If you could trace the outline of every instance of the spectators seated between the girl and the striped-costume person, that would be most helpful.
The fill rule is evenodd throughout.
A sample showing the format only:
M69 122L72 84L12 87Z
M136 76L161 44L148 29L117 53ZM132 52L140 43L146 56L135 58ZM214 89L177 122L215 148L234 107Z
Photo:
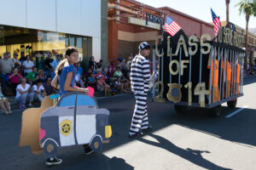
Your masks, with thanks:
M131 93L129 72L131 60L134 54L130 54L128 61L119 55L117 61L108 61L106 68L102 67L102 59L96 63L94 57L90 57L89 70L84 72L84 79L88 86L95 88L98 93L114 95L116 93Z

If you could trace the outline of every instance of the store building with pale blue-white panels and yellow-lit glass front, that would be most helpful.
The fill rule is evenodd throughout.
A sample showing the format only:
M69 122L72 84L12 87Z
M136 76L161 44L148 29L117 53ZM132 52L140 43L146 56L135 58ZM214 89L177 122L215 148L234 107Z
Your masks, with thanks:
M83 67L91 55L108 59L107 0L0 0L0 56L24 53L39 64L46 54L79 49Z

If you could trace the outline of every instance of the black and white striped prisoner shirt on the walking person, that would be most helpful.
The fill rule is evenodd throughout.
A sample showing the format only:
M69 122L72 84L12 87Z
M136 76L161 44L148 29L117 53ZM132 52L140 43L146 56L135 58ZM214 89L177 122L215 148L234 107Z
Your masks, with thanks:
M148 59L138 54L131 61L131 90L133 93L147 93L150 82Z

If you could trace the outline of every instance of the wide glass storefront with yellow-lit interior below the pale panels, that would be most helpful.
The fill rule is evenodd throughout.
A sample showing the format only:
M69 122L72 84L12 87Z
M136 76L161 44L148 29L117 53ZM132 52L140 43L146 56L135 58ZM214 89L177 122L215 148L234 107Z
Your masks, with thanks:
M21 53L24 53L25 56L30 55L39 69L44 69L41 64L48 54L52 54L52 59L55 59L56 54L61 54L64 57L66 48L69 46L78 48L82 67L87 67L86 62L92 51L91 37L15 26L0 26L0 56L3 56L4 52L9 52L11 58L14 53L17 53L18 59L20 59Z

